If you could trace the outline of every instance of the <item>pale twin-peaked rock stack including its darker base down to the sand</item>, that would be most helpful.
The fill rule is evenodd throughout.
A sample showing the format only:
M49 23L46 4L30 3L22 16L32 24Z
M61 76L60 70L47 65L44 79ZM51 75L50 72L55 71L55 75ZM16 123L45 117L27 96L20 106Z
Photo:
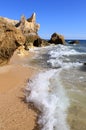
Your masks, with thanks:
M25 49L29 50L29 47L32 47L34 41L39 38L38 30L40 25L36 23L36 14L33 13L28 19L26 19L25 16L22 16L19 23L15 26L20 29L26 37Z

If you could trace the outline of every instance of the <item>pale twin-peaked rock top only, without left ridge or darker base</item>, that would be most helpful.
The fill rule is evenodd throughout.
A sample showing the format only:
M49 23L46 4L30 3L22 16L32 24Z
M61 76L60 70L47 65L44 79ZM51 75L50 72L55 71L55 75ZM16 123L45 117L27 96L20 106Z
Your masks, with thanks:
M28 36L29 34L37 35L40 25L36 23L36 14L33 13L28 19L22 16L20 22L16 24L16 27L20 29L25 36Z

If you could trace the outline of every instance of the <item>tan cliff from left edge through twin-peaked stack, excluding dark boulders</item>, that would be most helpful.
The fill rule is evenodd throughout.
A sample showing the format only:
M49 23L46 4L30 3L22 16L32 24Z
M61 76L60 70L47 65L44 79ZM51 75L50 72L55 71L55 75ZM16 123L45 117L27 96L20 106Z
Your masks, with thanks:
M33 46L34 41L39 38L39 28L35 13L28 19L22 16L20 21L0 17L0 64L8 61L19 46L24 45L29 50L28 46Z

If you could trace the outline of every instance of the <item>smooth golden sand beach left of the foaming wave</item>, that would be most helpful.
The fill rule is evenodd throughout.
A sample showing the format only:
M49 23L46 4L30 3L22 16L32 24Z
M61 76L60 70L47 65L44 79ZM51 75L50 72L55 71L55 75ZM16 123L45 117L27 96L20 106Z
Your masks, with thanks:
M24 90L27 79L37 71L24 67L24 59L14 54L8 65L0 67L0 130L33 130L36 126L37 112L25 103Z

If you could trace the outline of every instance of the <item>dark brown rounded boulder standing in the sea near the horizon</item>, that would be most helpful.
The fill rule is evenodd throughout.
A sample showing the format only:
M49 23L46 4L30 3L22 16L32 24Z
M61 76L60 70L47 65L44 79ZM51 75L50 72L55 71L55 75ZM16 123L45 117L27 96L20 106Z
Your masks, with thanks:
M62 35L59 35L57 33L53 33L51 35L51 39L49 40L49 43L53 44L65 44L64 37Z

